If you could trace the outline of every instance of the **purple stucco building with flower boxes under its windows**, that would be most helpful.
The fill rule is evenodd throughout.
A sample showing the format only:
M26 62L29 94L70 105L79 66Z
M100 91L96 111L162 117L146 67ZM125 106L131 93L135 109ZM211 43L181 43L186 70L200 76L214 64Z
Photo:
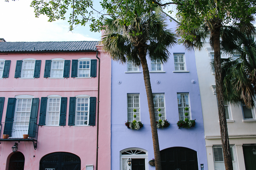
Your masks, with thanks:
M169 19L169 28L174 30L177 21L171 18L170 22ZM170 49L168 63L162 65L150 60L147 63L156 121L161 119L170 123L170 126L158 129L162 169L207 170L194 52L176 45ZM148 163L154 158L154 151L142 68L112 61L111 81L111 169L153 170L155 167ZM185 119L191 127L179 129L177 122ZM141 121L143 127L132 130L125 125L133 120ZM191 120L196 122L194 127ZM130 160L131 165L128 164Z

